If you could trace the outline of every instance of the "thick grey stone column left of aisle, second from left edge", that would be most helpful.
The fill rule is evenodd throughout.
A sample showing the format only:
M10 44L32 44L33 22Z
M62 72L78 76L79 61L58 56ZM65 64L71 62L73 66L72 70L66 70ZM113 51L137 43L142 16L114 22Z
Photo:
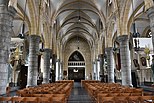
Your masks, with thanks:
M30 35L27 87L37 85L39 42L40 36Z

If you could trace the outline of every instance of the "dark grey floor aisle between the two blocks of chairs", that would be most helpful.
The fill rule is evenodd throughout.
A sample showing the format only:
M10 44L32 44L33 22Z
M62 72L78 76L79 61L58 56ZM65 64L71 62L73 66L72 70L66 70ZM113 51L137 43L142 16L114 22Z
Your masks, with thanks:
M80 82L74 82L71 95L68 99L68 103L96 103L87 91L81 86Z

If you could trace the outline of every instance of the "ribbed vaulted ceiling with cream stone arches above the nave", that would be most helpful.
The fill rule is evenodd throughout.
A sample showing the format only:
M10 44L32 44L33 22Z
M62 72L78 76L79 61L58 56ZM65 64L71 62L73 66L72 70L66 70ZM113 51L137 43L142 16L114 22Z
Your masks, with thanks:
M103 32L112 22L110 18L116 12L119 13L120 19L124 17L125 12L128 12L127 26L130 32L132 20L136 20L141 34L149 27L143 0L27 0L27 2L18 0L16 9L18 15L13 24L14 35L19 34L24 20L26 21L24 32L38 33L47 42L55 37L65 44L69 39L80 36L92 46L99 38L106 35ZM113 36L119 27L117 21L114 22ZM47 26L44 26L45 24ZM145 25L141 27L141 24Z

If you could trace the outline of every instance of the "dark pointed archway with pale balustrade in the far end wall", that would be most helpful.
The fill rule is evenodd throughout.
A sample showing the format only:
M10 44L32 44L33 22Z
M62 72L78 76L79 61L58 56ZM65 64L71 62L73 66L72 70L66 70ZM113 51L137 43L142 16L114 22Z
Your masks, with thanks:
M72 53L68 60L68 79L80 82L85 80L85 61L78 51Z

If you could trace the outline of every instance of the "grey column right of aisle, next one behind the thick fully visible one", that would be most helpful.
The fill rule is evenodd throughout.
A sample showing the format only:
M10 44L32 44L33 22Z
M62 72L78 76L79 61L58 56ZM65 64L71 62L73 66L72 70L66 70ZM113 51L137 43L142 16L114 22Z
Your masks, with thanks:
M114 57L113 48L108 47L105 49L107 54L107 71L108 71L108 82L114 83Z

